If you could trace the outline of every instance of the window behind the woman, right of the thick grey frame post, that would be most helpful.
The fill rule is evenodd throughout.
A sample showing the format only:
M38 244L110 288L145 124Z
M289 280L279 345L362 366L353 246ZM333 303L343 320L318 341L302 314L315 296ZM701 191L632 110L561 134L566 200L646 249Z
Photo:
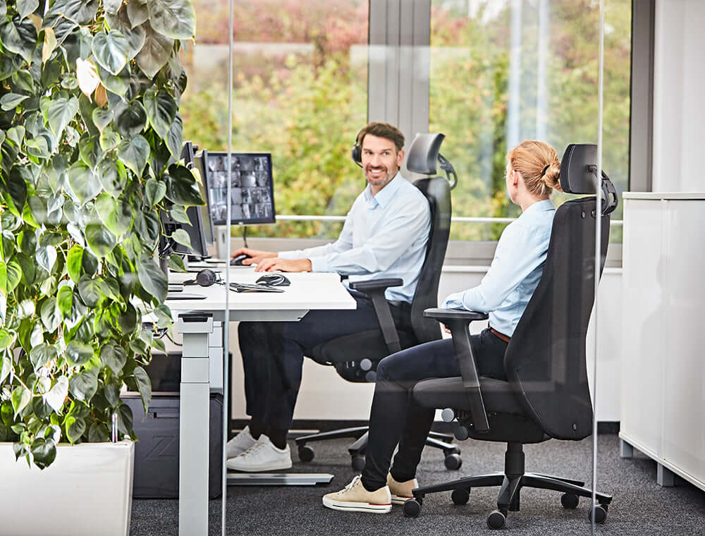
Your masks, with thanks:
M605 8L603 169L621 193L629 170L631 0ZM507 150L522 140L544 140L559 155L569 143L597 141L595 1L431 0L430 61L429 130L446 133L443 154L460 176L455 217L519 214L505 194L504 169ZM613 216L620 218L621 210ZM451 239L496 240L503 226L456 222ZM616 229L612 240L621 241Z

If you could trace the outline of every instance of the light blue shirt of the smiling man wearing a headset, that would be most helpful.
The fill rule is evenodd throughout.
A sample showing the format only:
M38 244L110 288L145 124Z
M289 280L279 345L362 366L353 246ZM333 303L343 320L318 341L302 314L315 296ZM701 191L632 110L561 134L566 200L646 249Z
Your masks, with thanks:
M376 195L367 185L357 196L338 240L278 255L310 259L313 272L338 272L349 276L351 282L399 277L404 285L388 288L384 296L411 302L430 230L429 202L397 173Z

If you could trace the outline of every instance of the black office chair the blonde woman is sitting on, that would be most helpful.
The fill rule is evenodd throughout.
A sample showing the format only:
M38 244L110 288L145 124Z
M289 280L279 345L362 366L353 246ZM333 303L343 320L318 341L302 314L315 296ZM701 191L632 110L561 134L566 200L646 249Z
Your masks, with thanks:
M596 145L570 145L563 155L560 185L568 193L595 191ZM602 173L606 200L601 214L601 263L609 239L609 214L617 195ZM501 486L497 510L487 525L502 528L508 511L518 511L522 487L563 492L561 504L575 508L578 497L591 497L584 482L525 473L525 443L547 439L579 441L592 433L592 406L585 364L585 337L594 303L596 202L594 197L565 202L556 209L544 273L522 315L504 358L508 382L477 376L470 347L470 322L481 312L432 309L425 315L443 322L453 335L461 377L426 379L413 389L424 407L443 410L444 420L458 420L456 437L507 443L503 473L465 477L419 487L404 505L407 516L419 514L426 494L453 490L455 504L465 504L472 487ZM598 493L589 517L602 523L612 497Z

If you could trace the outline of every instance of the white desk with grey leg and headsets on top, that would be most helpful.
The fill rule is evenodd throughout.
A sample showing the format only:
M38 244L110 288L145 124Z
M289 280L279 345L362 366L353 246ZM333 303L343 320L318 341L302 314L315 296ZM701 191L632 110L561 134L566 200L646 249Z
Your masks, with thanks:
M230 281L254 283L261 273L233 267ZM170 274L170 282L193 279L195 274ZM226 319L223 285L185 287L204 300L167 300L177 329L183 335L179 404L179 534L208 534L208 426L209 336L214 322L300 320L309 310L355 309L355 300L338 274L286 274L290 286L283 293L229 291L230 315ZM225 278L224 270L221 277ZM223 325L223 329L227 329ZM227 349L223 349L227 351ZM227 385L226 385L227 388Z

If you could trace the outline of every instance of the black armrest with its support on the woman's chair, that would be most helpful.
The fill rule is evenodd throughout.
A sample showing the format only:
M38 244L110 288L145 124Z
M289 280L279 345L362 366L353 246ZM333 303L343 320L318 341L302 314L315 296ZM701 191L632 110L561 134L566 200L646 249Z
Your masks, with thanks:
M472 346L470 345L470 322L487 319L489 315L486 312L436 308L424 310L424 317L435 318L439 322L446 324L446 327L450 329L455 355L458 357L458 365L460 365L462 386L470 403L474 429L477 432L488 432L489 421L487 420L487 412L482 400L482 392L480 391L477 363L475 363L474 355L472 355Z

